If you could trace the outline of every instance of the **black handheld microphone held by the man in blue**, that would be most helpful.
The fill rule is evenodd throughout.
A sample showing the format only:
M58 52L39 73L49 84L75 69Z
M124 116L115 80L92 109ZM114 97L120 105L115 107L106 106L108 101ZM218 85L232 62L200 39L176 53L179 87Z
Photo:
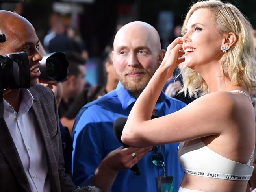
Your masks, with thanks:
M122 146L124 148L128 148L129 146L124 144L121 140L121 136L122 136L122 130L124 129L124 125L126 124L127 118L125 117L119 117L115 120L114 122L114 133L115 133L115 137L117 138L117 140L122 144ZM134 175L140 175L141 172L139 171L139 167L137 164L135 164L134 166L132 166L132 168L130 168L130 170L132 170L134 172Z

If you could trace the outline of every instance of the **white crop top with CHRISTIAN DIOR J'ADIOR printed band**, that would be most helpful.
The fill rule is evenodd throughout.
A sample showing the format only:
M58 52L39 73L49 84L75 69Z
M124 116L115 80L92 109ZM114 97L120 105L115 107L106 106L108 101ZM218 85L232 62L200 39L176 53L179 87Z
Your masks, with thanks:
M241 91L232 92L244 94ZM253 153L254 150L247 164L242 164L212 151L200 138L181 142L178 148L180 164L187 174L240 181L248 181L252 176L254 166L250 166L250 162Z

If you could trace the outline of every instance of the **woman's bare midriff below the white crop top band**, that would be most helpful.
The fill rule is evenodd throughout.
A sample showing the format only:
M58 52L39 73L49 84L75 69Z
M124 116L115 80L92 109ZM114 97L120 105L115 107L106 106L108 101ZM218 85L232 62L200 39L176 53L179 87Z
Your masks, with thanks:
M180 186L205 192L245 192L248 181L232 181L185 174Z

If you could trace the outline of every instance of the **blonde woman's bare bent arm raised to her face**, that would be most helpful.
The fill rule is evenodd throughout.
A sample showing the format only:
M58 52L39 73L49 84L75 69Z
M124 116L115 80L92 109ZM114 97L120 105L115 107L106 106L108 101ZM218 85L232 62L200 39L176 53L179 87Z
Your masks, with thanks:
M230 99L232 94L229 92L207 94L175 113L150 120L165 81L183 61L178 60L182 48L180 42L176 39L169 45L163 62L135 102L122 132L125 144L145 147L191 140L218 135L223 127L234 124L234 100Z

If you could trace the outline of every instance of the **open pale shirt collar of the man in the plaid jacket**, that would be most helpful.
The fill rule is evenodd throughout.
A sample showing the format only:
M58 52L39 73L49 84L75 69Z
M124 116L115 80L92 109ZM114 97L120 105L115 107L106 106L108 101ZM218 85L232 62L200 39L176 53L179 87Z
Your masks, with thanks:
M33 98L32 94L30 93L30 91L28 89L21 89L20 93L22 94L21 103L24 102L25 105L22 107L22 105L20 103L19 111L22 110L21 107L22 108L25 107L27 109L26 112L28 112L29 109L31 108L32 104L33 104L34 98ZM8 110L8 111L14 113L13 107L11 107L11 105L6 100L4 100L4 110Z

